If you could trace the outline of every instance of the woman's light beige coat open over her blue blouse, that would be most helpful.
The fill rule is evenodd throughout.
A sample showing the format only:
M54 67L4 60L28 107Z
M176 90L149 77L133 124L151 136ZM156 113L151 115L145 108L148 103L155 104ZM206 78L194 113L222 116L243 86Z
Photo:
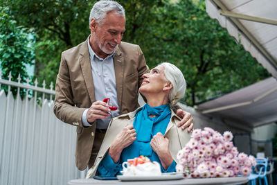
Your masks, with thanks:
M136 109L136 111L139 111L141 108L142 107L139 107L139 109ZM96 157L96 161L87 172L86 178L93 177L94 175L96 175L97 168L102 159L104 159L104 157L106 156L107 151L109 150L109 147L111 146L111 143L114 141L116 135L121 130L123 130L123 127L126 127L127 125L133 125L136 111L130 112L129 114L123 114L111 120L105 138L102 142L102 146ZM175 161L177 161L177 152L184 148L186 143L188 143L188 141L190 140L190 134L188 134L186 130L181 130L181 127L177 127L177 124L180 120L181 118L179 118L171 110L170 122L168 123L166 133L164 134L164 136L167 136L169 139L170 154Z

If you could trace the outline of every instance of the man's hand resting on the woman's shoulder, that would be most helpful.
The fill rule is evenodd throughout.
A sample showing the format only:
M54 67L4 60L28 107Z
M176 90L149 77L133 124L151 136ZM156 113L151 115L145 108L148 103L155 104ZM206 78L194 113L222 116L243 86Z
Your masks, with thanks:
M193 116L189 112L183 111L182 109L177 109L176 114L182 118L178 127L181 127L182 130L185 130L188 127L188 132L193 131Z

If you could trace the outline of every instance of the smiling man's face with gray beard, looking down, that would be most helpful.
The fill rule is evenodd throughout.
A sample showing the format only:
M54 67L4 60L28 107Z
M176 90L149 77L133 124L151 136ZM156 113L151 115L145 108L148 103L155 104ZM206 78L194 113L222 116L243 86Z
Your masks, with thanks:
M125 17L116 12L108 12L100 24L91 19L91 48L100 58L106 58L120 44L125 32Z

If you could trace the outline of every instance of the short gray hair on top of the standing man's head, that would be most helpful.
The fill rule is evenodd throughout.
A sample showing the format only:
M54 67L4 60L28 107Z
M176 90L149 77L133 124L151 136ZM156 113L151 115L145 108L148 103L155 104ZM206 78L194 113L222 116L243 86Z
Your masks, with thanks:
M89 24L92 18L96 19L96 22L98 24L101 24L101 21L105 19L107 12L110 12L113 10L115 10L116 13L118 13L118 15L125 17L125 10L123 6L121 6L116 1L103 0L103 1L96 2L92 7L91 13L89 15Z

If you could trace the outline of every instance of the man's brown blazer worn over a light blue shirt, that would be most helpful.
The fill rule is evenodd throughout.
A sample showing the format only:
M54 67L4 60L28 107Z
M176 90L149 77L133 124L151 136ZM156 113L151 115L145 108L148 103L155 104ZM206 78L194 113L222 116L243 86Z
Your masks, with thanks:
M120 114L139 107L138 89L149 69L138 45L121 42L116 46L114 70ZM62 52L60 71L55 85L54 113L61 121L77 126L75 163L87 168L93 147L96 124L83 127L82 113L96 101L87 40Z

